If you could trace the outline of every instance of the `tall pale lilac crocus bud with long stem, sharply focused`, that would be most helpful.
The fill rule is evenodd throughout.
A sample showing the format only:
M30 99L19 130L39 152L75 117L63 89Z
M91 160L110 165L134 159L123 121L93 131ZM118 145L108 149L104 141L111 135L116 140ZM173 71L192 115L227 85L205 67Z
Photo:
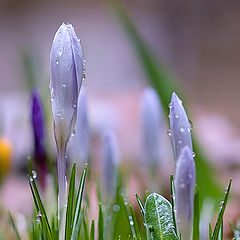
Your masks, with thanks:
M81 45L71 24L62 24L53 39L50 92L57 145L59 185L59 239L64 238L66 211L66 145L77 117L78 95L84 66Z

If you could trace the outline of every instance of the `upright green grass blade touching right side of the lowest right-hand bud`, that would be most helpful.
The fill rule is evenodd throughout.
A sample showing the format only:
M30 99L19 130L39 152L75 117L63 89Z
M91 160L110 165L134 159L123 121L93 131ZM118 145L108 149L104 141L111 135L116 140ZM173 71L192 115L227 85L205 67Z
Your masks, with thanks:
M199 190L195 187L194 195L194 213L193 213L193 240L199 240L199 221L200 221L200 211L199 211Z

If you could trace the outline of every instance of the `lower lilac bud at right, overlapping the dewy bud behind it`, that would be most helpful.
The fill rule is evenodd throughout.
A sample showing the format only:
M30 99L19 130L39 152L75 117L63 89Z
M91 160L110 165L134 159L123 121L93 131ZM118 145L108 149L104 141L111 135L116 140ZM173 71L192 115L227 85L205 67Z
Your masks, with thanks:
M185 146L177 160L175 173L176 219L184 240L190 240L192 235L195 182L192 151Z

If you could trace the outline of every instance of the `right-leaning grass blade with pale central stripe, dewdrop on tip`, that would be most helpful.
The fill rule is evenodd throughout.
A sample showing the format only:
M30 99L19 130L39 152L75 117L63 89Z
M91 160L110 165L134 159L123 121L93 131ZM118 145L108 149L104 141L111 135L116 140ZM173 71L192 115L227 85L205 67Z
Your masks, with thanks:
M78 187L76 205L74 208L71 240L75 240L78 238L78 231L79 231L79 226L80 226L80 215L81 215L81 204L82 204L83 190L84 190L86 175L87 175L87 164L84 166L83 173L82 173L81 180L80 180L79 187Z

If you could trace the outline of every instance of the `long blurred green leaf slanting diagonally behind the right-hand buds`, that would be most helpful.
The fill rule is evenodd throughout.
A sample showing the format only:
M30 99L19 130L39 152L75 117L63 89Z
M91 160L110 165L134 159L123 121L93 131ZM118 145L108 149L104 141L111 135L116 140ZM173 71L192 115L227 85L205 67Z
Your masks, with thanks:
M173 78L167 73L165 66L159 62L153 51L150 50L149 46L144 42L133 22L129 18L126 10L122 5L117 4L113 6L116 15L118 16L122 27L125 29L129 39L133 43L136 54L142 67L146 73L147 79L150 84L156 89L158 95L163 104L165 114L168 115L168 103L172 92L178 91L179 87ZM181 94L180 94L181 95ZM199 151L199 145L193 136L194 150L197 156L196 169L197 169L197 184L201 189L200 205L203 199L207 196L211 196L215 200L215 204L218 203L221 198L221 191L218 185L214 181L214 171L205 160L205 156Z

